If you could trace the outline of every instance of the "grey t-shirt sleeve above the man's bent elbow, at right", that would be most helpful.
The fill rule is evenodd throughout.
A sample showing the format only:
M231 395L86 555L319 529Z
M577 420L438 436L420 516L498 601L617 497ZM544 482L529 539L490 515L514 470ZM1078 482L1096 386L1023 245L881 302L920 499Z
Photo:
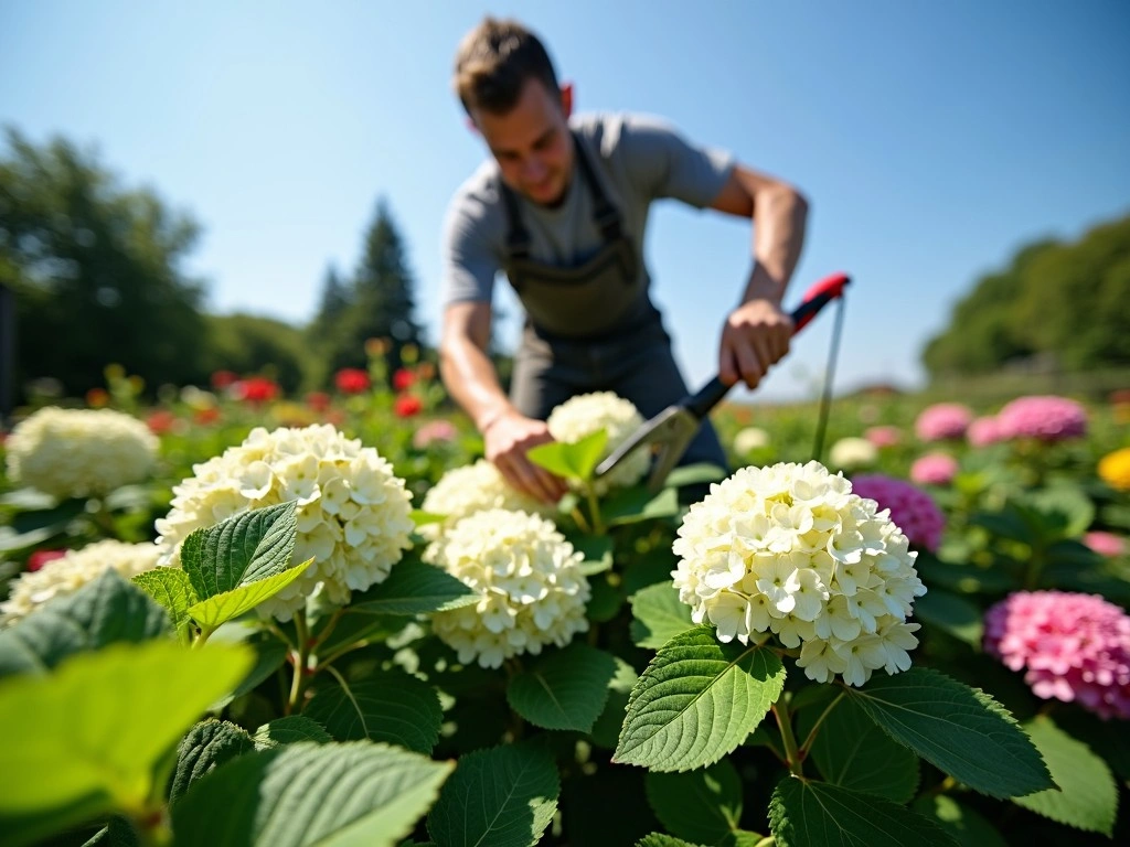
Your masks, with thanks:
M718 197L734 165L729 151L695 145L652 115L624 117L619 152L645 197L673 198L699 209Z

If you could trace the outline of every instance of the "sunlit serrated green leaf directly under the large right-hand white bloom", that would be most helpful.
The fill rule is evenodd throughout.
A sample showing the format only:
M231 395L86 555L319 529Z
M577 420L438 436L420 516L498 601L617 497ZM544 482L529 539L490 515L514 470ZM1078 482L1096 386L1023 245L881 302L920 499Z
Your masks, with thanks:
M692 770L737 748L784 687L781 660L760 647L720 644L712 627L668 641L632 689L612 761Z

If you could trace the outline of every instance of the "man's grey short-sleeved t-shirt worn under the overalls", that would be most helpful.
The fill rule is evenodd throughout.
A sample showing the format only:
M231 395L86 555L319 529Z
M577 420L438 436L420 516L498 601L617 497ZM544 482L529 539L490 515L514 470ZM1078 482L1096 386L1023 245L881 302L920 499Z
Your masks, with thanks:
M598 113L575 115L576 131L609 201L620 212L632 238L646 290L650 276L643 260L644 228L652 201L683 200L702 209L725 184L733 157L698 147L661 119L650 115ZM489 303L496 274L506 257L506 209L498 166L487 159L455 192L443 229L443 304ZM573 265L601 245L592 219L592 194L574 168L565 201L548 209L519 197L529 235L530 257Z

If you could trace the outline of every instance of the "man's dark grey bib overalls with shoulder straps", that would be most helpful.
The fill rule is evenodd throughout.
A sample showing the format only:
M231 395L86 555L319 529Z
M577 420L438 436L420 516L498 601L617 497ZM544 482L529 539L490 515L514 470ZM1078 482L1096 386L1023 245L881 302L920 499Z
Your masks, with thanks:
M684 398L687 386L662 316L638 273L635 245L575 133L573 140L602 236L600 248L583 261L560 267L531 259L518 199L499 181L508 225L504 267L527 313L511 402L523 414L545 420L576 394L612 391L651 418ZM680 464L695 462L728 466L709 420Z

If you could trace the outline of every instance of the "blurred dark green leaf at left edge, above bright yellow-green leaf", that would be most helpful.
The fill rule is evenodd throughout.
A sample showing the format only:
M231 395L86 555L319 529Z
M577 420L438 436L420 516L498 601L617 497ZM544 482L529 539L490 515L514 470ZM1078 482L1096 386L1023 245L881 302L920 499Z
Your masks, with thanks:
M0 678L46 673L64 658L108 644L138 644L168 635L165 611L116 570L108 569L0 630Z

